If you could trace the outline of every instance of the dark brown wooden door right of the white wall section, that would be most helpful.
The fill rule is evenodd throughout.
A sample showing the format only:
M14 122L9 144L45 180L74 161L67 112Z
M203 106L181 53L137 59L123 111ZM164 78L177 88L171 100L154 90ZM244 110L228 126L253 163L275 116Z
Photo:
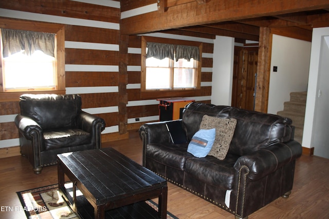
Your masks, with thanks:
M232 106L254 110L258 47L236 47L234 50Z

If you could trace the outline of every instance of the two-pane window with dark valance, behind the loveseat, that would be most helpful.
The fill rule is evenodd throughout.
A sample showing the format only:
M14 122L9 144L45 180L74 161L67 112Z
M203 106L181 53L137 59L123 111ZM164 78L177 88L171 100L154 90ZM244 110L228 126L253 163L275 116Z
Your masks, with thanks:
M161 39L153 37L142 37L142 39L142 91L174 91L200 88L201 64L199 51L201 51L202 44L175 40L172 41L174 44L166 44L161 43ZM192 47L192 50L195 51L190 51L190 55L181 54L182 47L188 49ZM198 55L194 53L196 50ZM186 56L186 58L179 58L182 56ZM199 61L196 59L199 59Z

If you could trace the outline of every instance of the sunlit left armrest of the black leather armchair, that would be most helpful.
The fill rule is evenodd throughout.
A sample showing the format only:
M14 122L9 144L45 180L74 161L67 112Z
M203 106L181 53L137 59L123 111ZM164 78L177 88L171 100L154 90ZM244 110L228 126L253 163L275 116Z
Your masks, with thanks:
M15 125L19 129L19 132L27 140L32 141L32 138L34 137L35 133L38 133L39 136L43 136L43 130L41 126L28 116L20 114L16 115Z

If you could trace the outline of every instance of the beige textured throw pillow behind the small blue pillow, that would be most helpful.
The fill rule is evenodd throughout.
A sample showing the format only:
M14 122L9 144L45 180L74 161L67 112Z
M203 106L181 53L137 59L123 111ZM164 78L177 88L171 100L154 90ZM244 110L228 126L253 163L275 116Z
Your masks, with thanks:
M221 118L204 115L200 129L216 129L215 142L208 153L219 160L224 160L230 147L236 126L235 118Z

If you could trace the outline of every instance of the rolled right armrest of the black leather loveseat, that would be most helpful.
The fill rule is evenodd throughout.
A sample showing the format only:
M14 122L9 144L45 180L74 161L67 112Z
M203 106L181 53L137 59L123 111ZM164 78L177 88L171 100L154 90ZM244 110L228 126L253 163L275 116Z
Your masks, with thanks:
M295 160L301 154L302 146L298 142L290 140L239 157L234 164L234 169L241 171L241 169L247 168L247 177L255 181Z

